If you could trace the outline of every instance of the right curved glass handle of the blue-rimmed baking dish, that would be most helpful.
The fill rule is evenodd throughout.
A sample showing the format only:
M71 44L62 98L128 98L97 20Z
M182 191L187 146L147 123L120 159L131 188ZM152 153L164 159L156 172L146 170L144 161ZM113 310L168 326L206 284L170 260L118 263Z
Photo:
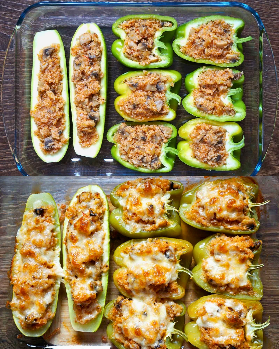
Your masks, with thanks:
M263 161L274 131L278 103L276 66L270 41L264 28L259 45L259 159Z

